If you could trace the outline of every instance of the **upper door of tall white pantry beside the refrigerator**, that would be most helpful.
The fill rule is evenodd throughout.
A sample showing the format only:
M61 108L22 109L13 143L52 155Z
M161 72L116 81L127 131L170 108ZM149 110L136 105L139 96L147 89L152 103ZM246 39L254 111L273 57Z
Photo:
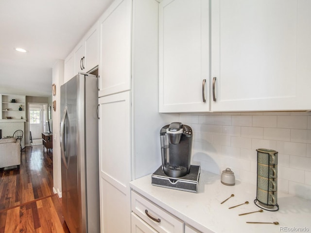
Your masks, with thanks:
M99 24L99 96L130 90L131 0L114 1L100 18Z

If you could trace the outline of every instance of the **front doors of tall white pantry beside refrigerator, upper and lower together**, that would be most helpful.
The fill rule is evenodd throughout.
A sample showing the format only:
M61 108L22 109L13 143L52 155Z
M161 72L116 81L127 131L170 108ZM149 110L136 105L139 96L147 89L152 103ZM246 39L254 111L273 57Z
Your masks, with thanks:
M103 233L127 232L131 226L131 11L131 0L116 0L99 20L99 176Z

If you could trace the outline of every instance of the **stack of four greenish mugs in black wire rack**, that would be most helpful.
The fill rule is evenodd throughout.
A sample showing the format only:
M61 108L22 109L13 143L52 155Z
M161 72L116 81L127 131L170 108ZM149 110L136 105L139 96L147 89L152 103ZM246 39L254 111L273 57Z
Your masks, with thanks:
M277 211L277 151L257 149L257 196L255 204Z

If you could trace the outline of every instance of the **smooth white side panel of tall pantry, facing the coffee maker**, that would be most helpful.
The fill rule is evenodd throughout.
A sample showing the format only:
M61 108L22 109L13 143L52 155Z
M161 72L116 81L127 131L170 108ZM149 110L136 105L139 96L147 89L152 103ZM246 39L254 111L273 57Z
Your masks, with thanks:
M161 165L160 129L178 114L158 113L158 2L133 1L133 179Z

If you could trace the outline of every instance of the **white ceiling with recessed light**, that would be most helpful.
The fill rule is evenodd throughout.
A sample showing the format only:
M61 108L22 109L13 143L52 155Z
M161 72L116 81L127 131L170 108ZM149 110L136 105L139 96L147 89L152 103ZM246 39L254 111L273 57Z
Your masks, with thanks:
M51 96L56 60L66 58L112 1L0 0L0 93Z

